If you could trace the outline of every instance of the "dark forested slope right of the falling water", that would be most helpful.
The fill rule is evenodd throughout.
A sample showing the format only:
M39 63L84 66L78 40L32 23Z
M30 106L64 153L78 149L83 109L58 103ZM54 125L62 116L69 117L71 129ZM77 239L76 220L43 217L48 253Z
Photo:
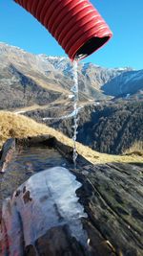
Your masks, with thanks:
M122 153L143 141L143 102L103 105L89 116L79 127L78 141L94 150Z

